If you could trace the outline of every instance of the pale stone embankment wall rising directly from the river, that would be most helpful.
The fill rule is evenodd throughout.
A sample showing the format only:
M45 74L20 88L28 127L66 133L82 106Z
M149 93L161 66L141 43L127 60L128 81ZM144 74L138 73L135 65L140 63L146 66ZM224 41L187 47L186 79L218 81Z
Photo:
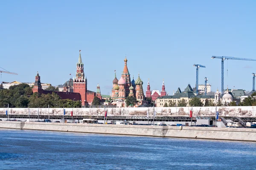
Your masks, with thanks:
M256 142L254 128L0 122L0 128Z

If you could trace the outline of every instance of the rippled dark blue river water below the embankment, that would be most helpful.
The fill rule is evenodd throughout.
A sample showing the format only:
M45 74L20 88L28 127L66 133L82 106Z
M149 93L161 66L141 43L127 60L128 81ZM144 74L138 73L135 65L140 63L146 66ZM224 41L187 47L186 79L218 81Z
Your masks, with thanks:
M0 169L255 170L256 143L0 129Z

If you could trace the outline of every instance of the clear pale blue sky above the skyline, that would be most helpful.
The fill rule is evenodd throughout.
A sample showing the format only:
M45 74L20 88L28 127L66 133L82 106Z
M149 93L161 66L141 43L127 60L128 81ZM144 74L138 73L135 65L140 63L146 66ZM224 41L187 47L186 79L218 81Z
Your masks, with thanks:
M256 59L256 1L171 0L45 0L0 2L0 82L63 84L76 72L81 50L88 89L102 94L112 88L114 70L120 78L125 54L134 79L146 90L161 89L165 79L171 95L178 87L199 84L204 77L212 91L221 89L221 60L212 55ZM228 73L227 73L228 68ZM2 69L1 69L2 70ZM224 88L252 89L256 62L224 63Z

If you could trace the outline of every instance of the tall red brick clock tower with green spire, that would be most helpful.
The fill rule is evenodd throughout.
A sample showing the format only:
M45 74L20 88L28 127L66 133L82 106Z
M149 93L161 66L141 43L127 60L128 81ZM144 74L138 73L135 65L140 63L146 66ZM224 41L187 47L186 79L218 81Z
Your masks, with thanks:
M87 79L84 77L84 63L81 58L81 50L79 50L79 59L76 63L76 77L73 79L73 89L75 93L80 93L81 103L84 106L87 93Z

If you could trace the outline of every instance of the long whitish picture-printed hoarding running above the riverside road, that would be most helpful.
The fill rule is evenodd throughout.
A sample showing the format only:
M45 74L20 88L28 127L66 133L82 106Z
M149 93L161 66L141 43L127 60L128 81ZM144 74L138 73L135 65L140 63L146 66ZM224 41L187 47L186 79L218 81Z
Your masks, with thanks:
M8 108L0 108L0 115L5 115ZM166 107L166 108L65 108L65 115L74 116L104 116L108 111L108 116L189 116L189 111L193 111L193 116L215 116L216 111L219 116L256 116L256 106L231 106L231 107ZM10 115L63 115L63 108L9 108Z

